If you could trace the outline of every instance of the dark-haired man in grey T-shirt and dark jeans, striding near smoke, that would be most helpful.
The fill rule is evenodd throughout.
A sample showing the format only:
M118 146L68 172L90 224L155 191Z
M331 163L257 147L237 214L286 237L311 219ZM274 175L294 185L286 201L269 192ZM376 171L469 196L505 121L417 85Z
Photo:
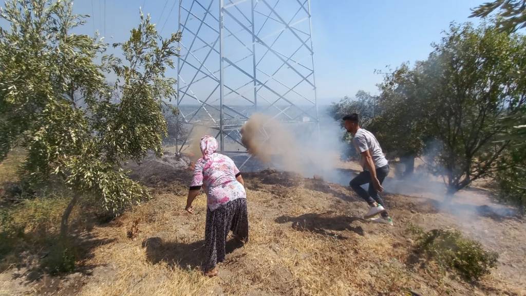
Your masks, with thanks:
M393 225L385 209L385 203L380 198L378 192L383 191L382 182L389 174L389 163L382 152L382 148L376 137L360 128L359 116L356 113L343 117L343 122L347 132L352 134L352 144L360 154L360 164L363 171L351 180L350 185L362 199L369 205L370 209L365 218L369 219L378 214L378 218L372 218L374 222ZM365 191L361 185L369 183L369 190Z

